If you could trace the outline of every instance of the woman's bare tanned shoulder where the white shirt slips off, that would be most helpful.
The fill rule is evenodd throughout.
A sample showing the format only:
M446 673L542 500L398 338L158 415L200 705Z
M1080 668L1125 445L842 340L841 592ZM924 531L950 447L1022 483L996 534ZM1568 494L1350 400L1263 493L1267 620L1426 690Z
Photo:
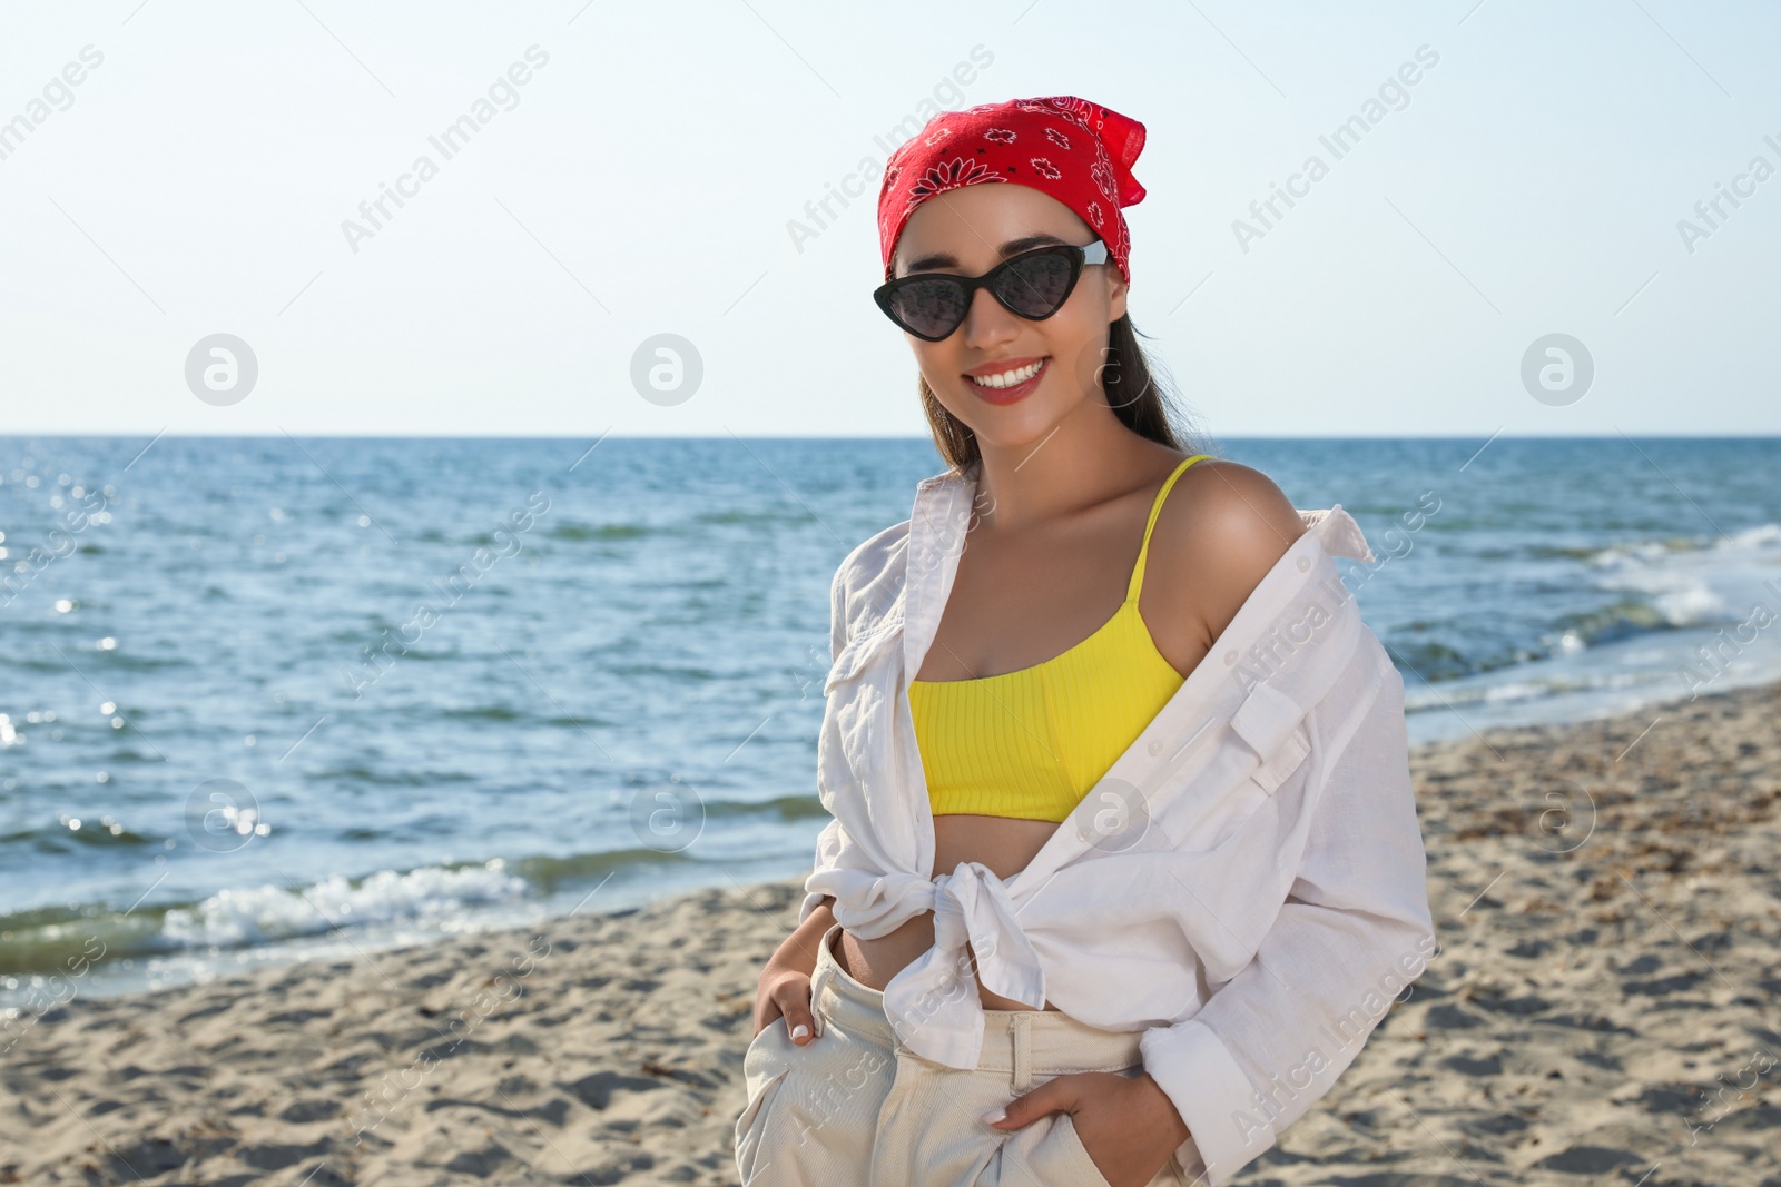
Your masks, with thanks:
M1209 644L1305 530L1286 491L1261 470L1222 457L1197 461L1156 516L1145 584L1154 571L1163 612L1197 614Z

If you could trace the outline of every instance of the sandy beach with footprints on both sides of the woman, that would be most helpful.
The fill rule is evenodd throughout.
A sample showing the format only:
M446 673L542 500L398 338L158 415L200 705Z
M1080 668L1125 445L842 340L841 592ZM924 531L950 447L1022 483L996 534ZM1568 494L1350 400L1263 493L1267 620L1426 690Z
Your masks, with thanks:
M1238 1182L1781 1183L1777 710L1418 749L1443 949ZM12 1018L0 1182L734 1183L800 883Z

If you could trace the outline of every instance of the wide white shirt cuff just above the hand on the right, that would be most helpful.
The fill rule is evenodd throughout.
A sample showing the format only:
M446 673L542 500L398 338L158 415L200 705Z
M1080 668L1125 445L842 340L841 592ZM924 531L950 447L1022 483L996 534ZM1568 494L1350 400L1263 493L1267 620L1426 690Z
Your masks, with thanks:
M1191 1134L1175 1157L1190 1178L1199 1173L1193 1162L1204 1167L1204 1180L1193 1182L1222 1187L1273 1144L1273 1123L1252 1105L1254 1086L1211 1027L1191 1018L1151 1027L1138 1052Z

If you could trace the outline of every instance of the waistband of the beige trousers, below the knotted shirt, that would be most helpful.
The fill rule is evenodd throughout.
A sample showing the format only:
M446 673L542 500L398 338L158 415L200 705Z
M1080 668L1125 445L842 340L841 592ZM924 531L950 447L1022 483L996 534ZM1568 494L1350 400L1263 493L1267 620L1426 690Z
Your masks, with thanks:
M885 1016L885 995L835 961L832 945L841 924L823 933L810 975L810 1002L826 1021L882 1046L899 1046ZM825 1021L825 1025L826 1025ZM1054 1009L985 1009L980 1071L1004 1071L1017 1080L1070 1071L1122 1071L1143 1062L1142 1030L1102 1030ZM821 1043L821 1039L817 1039Z

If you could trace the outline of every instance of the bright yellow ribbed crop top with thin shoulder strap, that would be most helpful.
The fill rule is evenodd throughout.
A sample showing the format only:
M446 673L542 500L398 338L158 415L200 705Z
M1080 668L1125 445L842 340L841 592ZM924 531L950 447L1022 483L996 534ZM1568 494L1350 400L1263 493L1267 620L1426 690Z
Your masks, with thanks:
M1061 822L1175 694L1184 676L1156 650L1138 591L1168 488L1208 456L1184 459L1156 493L1126 600L1092 635L1033 667L910 682L933 815Z

